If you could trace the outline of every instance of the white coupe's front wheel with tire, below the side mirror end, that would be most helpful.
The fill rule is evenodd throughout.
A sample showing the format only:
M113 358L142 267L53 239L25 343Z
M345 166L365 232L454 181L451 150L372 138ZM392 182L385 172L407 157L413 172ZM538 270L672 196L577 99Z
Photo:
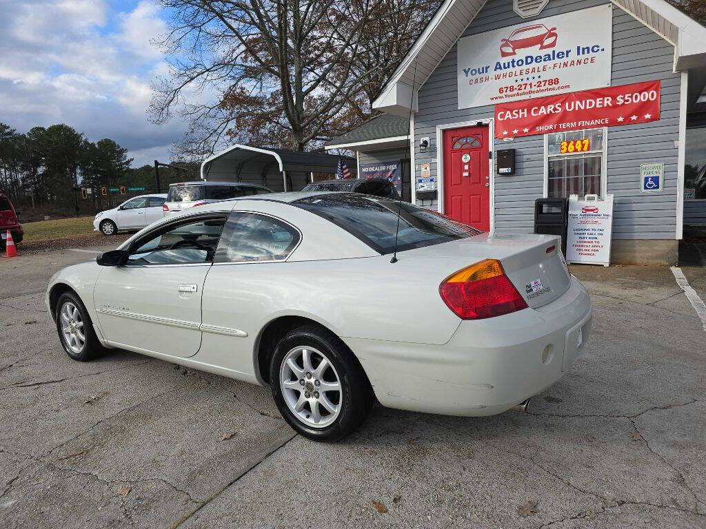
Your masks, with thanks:
M86 362L105 351L95 335L88 311L75 293L59 296L54 320L61 345L73 360Z

